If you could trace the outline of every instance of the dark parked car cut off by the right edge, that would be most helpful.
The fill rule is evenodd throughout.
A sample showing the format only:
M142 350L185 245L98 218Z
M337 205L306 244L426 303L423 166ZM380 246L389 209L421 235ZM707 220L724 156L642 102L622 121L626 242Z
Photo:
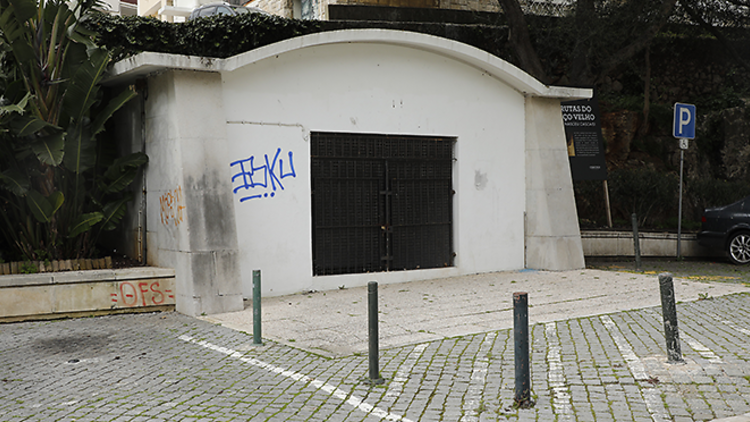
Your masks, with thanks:
M707 208L701 223L699 244L724 250L735 264L750 262L750 196L731 205Z

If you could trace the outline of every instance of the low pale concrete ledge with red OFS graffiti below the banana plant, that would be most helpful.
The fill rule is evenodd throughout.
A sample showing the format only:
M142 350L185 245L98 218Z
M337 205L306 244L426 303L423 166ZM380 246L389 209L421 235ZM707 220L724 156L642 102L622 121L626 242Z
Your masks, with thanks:
M173 269L0 276L0 322L174 309Z

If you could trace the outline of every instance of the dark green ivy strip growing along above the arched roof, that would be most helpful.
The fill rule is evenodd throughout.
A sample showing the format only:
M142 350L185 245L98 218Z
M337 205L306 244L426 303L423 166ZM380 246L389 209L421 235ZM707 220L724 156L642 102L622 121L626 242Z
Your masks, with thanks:
M182 23L140 16L97 14L87 20L114 61L143 51L212 58L231 57L285 39L355 28L401 29L454 39L508 57L507 29L493 25L420 22L313 21L248 13L216 15Z

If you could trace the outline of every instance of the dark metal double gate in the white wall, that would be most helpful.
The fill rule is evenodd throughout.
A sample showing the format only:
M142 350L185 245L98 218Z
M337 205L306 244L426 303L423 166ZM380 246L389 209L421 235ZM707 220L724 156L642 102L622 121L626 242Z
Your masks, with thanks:
M452 266L454 142L312 133L313 274Z

